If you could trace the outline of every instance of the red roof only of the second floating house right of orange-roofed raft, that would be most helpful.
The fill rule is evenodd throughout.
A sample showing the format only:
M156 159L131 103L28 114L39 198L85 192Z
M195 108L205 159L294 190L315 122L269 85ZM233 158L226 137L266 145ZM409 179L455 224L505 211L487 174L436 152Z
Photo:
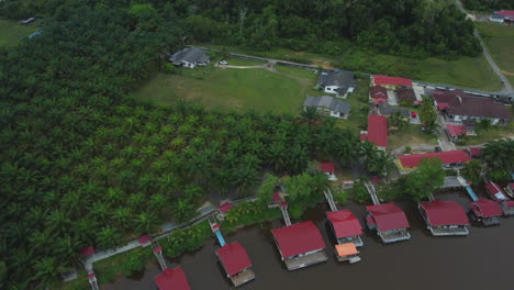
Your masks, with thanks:
M465 210L455 201L436 199L434 201L420 202L420 205L425 210L427 223L432 226L469 224Z

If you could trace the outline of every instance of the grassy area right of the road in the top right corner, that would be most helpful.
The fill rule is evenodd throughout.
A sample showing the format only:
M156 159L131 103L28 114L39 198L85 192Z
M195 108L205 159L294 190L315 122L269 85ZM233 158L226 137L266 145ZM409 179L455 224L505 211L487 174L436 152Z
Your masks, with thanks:
M478 22L477 29L489 47L493 58L502 70L512 72L510 81L514 80L514 29L487 22ZM514 82L513 82L514 83Z

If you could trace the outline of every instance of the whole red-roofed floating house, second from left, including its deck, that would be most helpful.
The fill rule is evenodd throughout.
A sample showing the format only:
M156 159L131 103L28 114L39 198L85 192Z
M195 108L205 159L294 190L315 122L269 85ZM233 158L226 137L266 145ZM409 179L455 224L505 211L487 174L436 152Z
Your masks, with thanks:
M216 255L226 271L226 276L235 287L255 279L252 261L246 254L246 249L239 243L225 244L216 250Z

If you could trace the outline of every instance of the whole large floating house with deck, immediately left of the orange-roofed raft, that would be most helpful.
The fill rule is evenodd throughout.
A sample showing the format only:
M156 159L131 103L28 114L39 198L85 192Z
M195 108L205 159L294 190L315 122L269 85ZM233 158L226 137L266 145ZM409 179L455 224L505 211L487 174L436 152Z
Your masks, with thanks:
M320 230L311 221L273 228L271 233L288 270L328 259Z

